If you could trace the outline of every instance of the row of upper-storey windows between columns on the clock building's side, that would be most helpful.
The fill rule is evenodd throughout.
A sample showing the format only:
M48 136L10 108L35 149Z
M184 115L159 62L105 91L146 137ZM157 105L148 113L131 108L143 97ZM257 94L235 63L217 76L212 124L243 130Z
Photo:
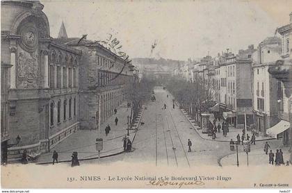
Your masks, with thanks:
M56 80L55 80L55 73L56 73ZM62 67L62 66L50 65L49 86L51 88L76 87L77 86L76 67Z

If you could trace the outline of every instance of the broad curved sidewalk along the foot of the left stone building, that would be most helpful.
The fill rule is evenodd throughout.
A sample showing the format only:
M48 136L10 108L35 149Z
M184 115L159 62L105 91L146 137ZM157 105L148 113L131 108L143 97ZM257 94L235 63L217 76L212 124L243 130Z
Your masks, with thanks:
M143 109L140 110L139 117L143 115ZM101 157L113 156L123 153L123 137L127 135L127 116L131 114L131 108L127 109L127 103L122 103L120 108L117 109L117 114L109 117L101 126L101 137L104 139L104 148L100 153ZM117 126L115 126L115 117L119 119ZM129 138L131 142L136 135L136 129L138 128L140 119L136 120L135 126L129 129ZM109 124L111 131L106 136L104 128ZM79 130L72 134L63 142L56 145L54 149L51 149L50 153L44 153L38 158L38 163L52 162L52 154L54 150L58 153L58 162L67 162L71 160L72 152L78 152L79 160L97 158L98 153L96 151L95 140L99 137L99 133L96 130Z

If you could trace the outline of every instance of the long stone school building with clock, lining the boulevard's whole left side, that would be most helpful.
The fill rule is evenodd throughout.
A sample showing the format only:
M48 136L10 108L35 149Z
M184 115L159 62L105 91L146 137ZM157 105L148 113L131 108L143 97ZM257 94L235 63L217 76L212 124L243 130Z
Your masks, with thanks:
M131 64L100 44L52 38L39 1L1 1L1 161L97 128L128 97Z

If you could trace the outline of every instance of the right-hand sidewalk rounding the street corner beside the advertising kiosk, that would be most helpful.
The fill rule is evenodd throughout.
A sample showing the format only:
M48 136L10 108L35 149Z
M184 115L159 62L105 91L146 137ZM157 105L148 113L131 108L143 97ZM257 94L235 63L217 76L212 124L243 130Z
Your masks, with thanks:
M212 140L211 136L208 136L208 134L206 134L206 133L202 133L202 130L200 129L200 126L195 124L195 119L192 119L190 117L190 115L188 115L188 112L186 112L183 109L180 109L180 110L184 114L186 119L188 119L190 124L192 124L193 128L195 128L195 131L197 131L197 133L200 135L200 137L202 137L204 140ZM217 125L218 125L218 123L220 123L220 125L222 126L222 119L220 121L216 121ZM250 139L251 139L252 132L251 131L247 131L247 133L248 133L248 135L250 136ZM229 126L229 132L227 133L226 137L223 136L223 133L221 131L220 133L216 133L216 140L212 140L212 141L230 142L231 139L236 141L236 135L237 134L239 134L241 136L243 134L242 133L242 129L235 128L233 126ZM265 140L275 140L275 138L273 138L273 137L265 137L263 135L259 135L259 137L256 137L256 141L265 141Z

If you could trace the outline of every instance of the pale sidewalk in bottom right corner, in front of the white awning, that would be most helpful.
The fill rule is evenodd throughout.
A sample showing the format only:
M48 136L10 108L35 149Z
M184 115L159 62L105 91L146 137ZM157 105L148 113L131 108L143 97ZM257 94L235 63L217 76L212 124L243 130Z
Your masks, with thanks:
M253 147L253 146L251 146L251 147ZM289 161L290 155L291 155L291 153L289 152L289 147L282 146L282 145L276 145L276 146L271 146L271 147L272 147L274 154L276 154L277 149L282 149L284 163L286 165L286 161ZM242 149L242 146L240 146L240 147L238 146L238 148ZM275 157L274 157L274 160L275 160ZM254 150L251 149L251 151L248 153L248 160L247 160L246 153L241 150L241 152L238 152L238 162L239 162L239 166L241 166L241 165L244 165L244 166L246 166L246 165L252 165L252 166L254 166L254 165L270 165L269 164L269 157L263 151L263 147L258 148L258 149L254 149ZM220 160L220 164L223 167L224 166L236 166L236 151L234 151L233 154L222 158ZM270 165L270 166L275 166L275 162L274 162L274 165ZM284 165L282 165L282 166L284 166ZM291 167L292 165L289 165L289 166Z

